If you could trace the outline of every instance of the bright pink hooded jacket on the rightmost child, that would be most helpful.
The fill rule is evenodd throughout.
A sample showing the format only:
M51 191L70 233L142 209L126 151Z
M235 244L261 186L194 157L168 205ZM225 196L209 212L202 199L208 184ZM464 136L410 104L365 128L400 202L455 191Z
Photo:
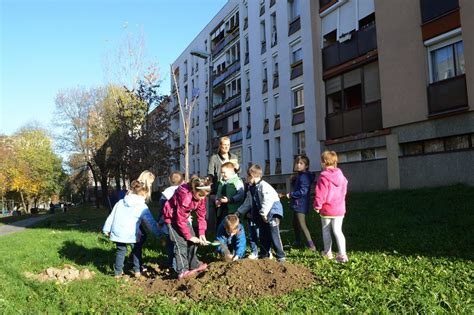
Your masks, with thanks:
M321 216L341 217L346 213L347 179L338 168L321 172L316 183L313 208Z

